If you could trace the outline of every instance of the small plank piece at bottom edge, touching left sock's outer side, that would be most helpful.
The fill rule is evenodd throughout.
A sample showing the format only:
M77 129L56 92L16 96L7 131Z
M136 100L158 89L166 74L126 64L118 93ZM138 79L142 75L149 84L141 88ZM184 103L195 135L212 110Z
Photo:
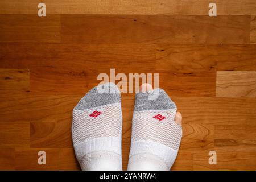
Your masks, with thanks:
M60 170L65 171L81 170L73 148L60 148L59 166Z

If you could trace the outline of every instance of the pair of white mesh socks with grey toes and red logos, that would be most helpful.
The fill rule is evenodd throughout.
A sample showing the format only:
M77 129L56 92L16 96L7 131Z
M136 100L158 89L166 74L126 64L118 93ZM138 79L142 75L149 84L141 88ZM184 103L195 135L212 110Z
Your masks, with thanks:
M175 114L176 105L164 90L136 94L128 170L170 170L182 137ZM96 86L79 101L72 139L82 170L122 170L121 95L115 84Z

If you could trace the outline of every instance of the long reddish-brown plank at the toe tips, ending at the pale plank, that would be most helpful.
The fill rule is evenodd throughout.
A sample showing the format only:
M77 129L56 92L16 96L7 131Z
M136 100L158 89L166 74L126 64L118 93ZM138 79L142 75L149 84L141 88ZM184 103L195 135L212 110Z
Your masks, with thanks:
M141 73L133 68L125 72L127 81L129 73ZM89 89L97 86L98 75L102 73L98 69L84 68L40 68L30 70L30 90L35 94L85 94ZM105 70L110 79L110 71ZM116 72L117 74L118 72ZM143 73L143 72L142 72ZM146 72L148 73L148 72ZM149 73L158 73L150 71ZM152 75L154 77L154 75ZM129 80L131 81L131 80ZM119 81L116 81L116 84ZM127 89L129 84L127 84ZM133 83L135 90L135 84ZM216 73L197 72L192 74L161 72L159 73L159 85L169 91L173 96L215 96ZM56 87L58 89L56 89ZM134 91L135 92L135 91Z

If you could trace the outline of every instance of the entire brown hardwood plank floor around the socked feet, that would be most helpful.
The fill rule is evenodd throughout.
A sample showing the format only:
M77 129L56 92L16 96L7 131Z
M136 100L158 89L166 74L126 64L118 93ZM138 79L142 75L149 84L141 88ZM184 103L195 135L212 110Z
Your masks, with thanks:
M0 169L77 170L72 109L97 75L159 73L183 114L173 170L256 169L256 1L0 2ZM127 169L134 94L122 94ZM38 151L47 164L38 165ZM209 151L217 165L209 165Z

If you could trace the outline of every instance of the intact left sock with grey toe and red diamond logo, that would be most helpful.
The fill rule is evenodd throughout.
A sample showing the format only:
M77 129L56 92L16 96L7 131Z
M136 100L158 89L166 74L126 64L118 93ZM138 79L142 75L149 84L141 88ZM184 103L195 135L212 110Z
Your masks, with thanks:
M121 96L113 83L90 90L73 109L72 139L82 170L122 170Z

